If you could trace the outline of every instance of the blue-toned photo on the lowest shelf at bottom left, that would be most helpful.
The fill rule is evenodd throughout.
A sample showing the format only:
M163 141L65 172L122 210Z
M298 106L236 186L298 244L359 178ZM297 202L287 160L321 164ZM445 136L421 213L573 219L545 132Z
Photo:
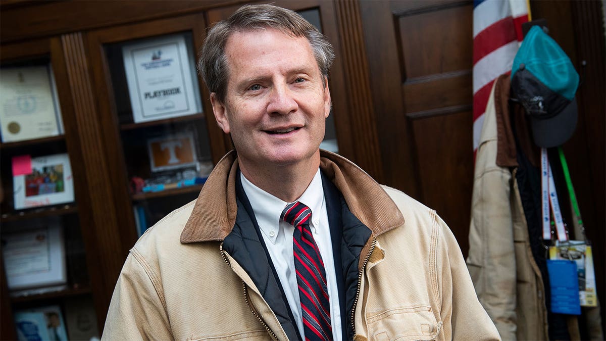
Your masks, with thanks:
M58 305L15 312L19 340L67 341L65 321Z

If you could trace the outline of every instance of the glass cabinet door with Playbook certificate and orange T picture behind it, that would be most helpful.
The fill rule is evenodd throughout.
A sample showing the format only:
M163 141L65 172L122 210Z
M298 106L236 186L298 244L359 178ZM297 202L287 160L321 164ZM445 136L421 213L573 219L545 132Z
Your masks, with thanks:
M203 35L202 15L89 35L90 44L101 47L96 69L109 104L102 115L109 138L118 141L110 141L112 163L127 196L120 206L132 217L124 228L137 237L195 200L227 150L196 72Z

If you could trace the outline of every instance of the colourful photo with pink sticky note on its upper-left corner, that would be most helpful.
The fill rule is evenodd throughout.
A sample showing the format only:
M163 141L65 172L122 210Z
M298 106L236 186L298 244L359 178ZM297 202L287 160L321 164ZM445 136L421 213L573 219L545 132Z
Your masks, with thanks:
M67 154L12 159L15 209L74 201L72 167Z

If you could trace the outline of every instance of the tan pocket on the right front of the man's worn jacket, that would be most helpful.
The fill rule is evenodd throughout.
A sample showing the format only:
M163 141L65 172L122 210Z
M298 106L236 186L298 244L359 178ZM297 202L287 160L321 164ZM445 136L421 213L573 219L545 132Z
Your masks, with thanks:
M389 309L367 318L370 340L435 340L442 322L429 306Z

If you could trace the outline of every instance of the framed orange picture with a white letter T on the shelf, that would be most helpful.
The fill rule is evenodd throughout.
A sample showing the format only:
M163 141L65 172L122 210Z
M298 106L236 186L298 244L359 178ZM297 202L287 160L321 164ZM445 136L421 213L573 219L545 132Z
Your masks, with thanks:
M193 132L150 138L147 150L152 172L195 167L198 162Z

